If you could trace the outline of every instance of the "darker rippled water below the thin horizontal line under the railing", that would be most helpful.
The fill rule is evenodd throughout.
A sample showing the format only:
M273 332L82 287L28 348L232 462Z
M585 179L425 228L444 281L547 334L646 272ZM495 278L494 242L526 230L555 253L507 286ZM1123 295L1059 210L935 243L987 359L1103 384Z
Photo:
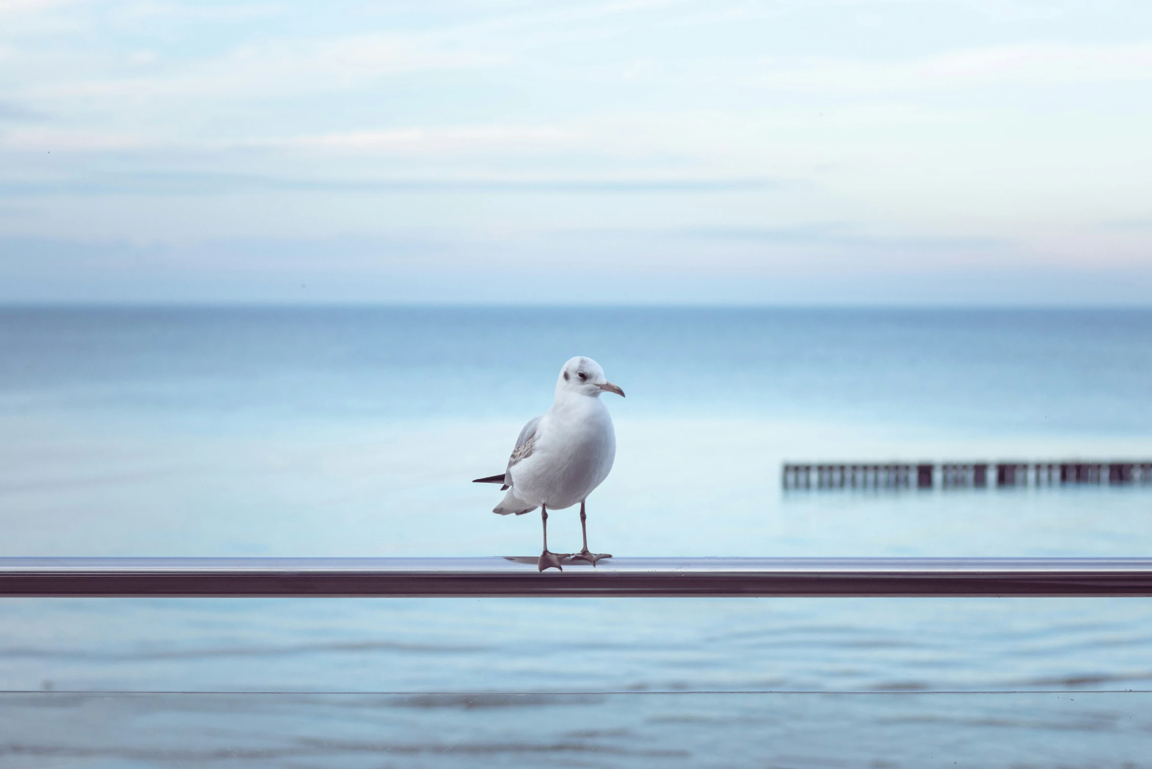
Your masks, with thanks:
M3 694L44 767L1152 766L1152 694Z

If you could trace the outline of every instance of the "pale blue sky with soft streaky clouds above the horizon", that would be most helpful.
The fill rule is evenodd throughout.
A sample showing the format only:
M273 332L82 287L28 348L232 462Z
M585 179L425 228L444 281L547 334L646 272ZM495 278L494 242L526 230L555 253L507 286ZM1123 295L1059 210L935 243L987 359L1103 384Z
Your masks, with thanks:
M1150 137L1146 0L0 0L0 302L1149 305Z

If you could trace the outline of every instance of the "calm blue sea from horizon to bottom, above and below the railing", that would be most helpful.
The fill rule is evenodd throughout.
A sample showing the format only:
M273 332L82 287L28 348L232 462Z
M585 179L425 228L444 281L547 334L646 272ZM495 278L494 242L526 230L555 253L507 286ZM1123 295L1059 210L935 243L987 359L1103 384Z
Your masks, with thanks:
M24 306L0 557L537 555L470 481L577 355L593 550L1152 555L1152 486L781 485L1152 457L1149 310ZM1152 767L1152 600L0 599L0 764Z

